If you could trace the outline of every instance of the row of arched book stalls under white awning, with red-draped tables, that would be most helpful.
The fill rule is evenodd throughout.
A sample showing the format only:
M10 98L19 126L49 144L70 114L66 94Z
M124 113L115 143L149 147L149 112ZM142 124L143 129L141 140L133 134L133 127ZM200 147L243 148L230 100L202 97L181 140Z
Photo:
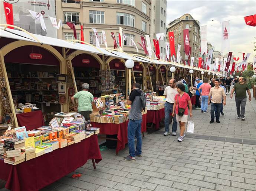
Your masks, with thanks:
M98 134L117 135L116 154L124 149L131 75L147 98L141 130L147 123L158 129L165 98L154 91L157 81L166 85L167 66L184 67L21 29L0 28L0 37L0 179L10 190L40 190L89 159L96 168ZM127 68L127 60L135 64ZM70 102L85 82L94 96L90 121Z

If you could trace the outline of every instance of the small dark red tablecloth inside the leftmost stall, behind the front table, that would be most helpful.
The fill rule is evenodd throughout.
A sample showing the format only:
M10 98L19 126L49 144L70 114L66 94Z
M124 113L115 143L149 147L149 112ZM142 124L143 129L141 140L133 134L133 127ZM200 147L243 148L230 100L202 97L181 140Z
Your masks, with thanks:
M17 113L18 125L26 126L27 130L33 130L45 125L41 110L36 110L29 113Z

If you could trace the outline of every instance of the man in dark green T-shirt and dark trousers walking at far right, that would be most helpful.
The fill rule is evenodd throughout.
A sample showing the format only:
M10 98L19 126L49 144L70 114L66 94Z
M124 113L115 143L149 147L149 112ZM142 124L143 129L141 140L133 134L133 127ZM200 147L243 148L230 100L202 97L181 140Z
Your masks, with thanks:
M241 76L238 79L238 83L235 83L235 85L232 88L230 98L233 98L233 93L236 91L236 111L237 111L237 119L241 119L244 121L244 113L245 113L245 105L246 105L246 91L249 95L249 101L252 100L250 88L247 83L244 83L244 78ZM241 111L240 111L241 107Z

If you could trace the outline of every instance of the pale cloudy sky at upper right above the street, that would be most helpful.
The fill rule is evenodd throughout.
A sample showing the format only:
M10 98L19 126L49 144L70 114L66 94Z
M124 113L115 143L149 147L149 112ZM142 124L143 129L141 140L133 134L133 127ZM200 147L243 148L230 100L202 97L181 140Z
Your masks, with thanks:
M221 22L230 20L230 52L240 57L239 52L251 53L249 61L253 61L253 42L256 27L245 24L244 16L256 14L255 0L167 0L167 24L190 13L200 22L200 26L207 25L207 42L221 51ZM168 26L168 25L167 25ZM228 53L227 51L223 52Z

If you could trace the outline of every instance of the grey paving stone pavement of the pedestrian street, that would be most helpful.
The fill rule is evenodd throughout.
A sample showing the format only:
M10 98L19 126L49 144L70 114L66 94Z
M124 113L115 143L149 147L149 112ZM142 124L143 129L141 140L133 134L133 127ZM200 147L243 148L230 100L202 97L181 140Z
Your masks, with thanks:
M142 157L123 160L128 146L115 155L115 149L101 151L102 161L93 170L91 160L42 191L250 191L256 190L256 145L226 141L227 138L256 140L256 101L247 102L246 121L236 119L234 100L227 99L220 124L209 124L210 113L193 110L195 133L223 137L224 141L196 138L187 134L183 142L163 136L163 129L146 134ZM179 129L179 128L178 128ZM193 136L193 137L191 137ZM3 189L4 190L4 189Z

